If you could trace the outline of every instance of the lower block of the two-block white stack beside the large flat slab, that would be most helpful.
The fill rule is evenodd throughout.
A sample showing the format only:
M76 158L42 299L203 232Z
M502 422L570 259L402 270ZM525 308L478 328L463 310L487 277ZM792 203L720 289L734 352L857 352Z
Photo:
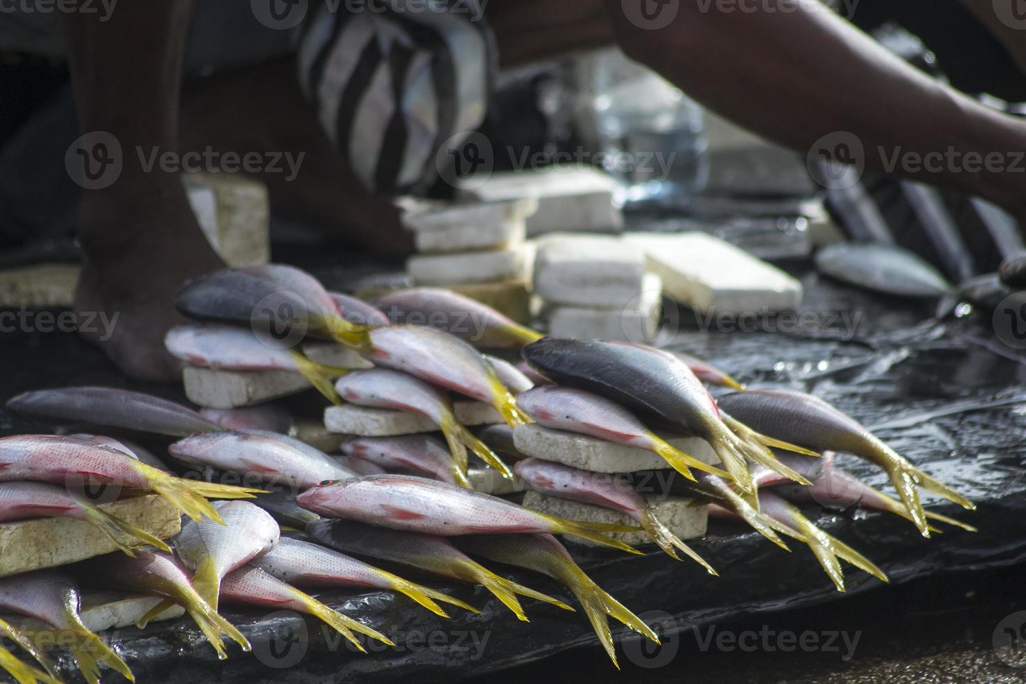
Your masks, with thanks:
M552 307L545 311L549 334L570 339L619 339L647 343L656 338L662 318L659 276L647 274L643 291L623 309Z

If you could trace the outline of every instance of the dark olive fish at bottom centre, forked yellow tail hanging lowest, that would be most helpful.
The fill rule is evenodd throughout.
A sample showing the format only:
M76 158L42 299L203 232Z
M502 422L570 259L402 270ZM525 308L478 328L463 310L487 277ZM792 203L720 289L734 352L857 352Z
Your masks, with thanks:
M660 643L656 633L640 617L625 608L585 574L570 558L563 545L551 534L461 537L460 548L497 563L542 572L568 588L581 602L602 648L618 670L620 666L617 663L617 652L613 645L613 635L609 632L606 615L615 617L657 644Z

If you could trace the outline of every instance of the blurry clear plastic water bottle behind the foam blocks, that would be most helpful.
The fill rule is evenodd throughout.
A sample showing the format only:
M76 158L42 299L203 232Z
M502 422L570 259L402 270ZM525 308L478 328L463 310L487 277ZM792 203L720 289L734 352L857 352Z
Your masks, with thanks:
M709 179L702 107L619 50L597 59L593 88L601 165L621 200L686 207Z

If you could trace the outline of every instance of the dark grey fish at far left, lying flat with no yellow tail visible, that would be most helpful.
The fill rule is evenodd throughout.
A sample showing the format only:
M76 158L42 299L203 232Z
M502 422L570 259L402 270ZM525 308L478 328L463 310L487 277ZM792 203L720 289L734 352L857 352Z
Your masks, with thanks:
M167 437L218 430L218 426L191 408L116 388L70 387L26 392L8 399L7 410L50 423L120 428Z

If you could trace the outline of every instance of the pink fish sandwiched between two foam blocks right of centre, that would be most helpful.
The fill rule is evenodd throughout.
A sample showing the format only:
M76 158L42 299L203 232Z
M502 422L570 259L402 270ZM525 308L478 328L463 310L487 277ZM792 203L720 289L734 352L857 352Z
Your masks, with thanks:
M623 513L641 525L652 540L671 558L680 560L680 556L677 555L679 549L704 567L709 574L719 574L656 517L648 502L634 491L623 476L589 473L540 458L521 460L513 467L513 470L535 491Z

